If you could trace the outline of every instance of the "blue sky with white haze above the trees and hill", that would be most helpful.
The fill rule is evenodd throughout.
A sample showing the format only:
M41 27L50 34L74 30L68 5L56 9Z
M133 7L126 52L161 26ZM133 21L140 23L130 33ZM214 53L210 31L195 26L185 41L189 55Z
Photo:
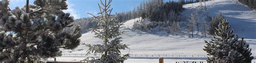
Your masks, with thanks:
M33 1L34 0L30 0L30 4L33 4ZM111 7L113 8L112 12L127 12L133 10L134 7L139 6L143 1L149 0L113 0L111 3ZM76 19L90 17L87 13L97 14L99 11L98 3L99 0L68 0L69 9L64 10L64 12L71 13ZM26 0L10 0L11 9L14 9L16 6L22 7L24 4L26 4Z

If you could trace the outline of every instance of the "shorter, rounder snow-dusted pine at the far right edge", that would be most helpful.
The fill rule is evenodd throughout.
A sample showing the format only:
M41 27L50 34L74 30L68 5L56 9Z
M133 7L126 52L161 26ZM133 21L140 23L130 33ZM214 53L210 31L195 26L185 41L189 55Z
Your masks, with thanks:
M232 63L251 63L253 57L249 44L244 41L244 38L238 39L238 35L235 35L234 38L225 43L224 51L228 55L225 55L224 59Z

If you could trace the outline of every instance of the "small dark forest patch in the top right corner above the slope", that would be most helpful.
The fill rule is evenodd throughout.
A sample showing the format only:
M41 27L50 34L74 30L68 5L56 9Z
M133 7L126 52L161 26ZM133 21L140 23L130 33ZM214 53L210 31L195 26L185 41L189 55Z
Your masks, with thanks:
M256 9L256 0L238 0L238 2L247 5L251 9Z

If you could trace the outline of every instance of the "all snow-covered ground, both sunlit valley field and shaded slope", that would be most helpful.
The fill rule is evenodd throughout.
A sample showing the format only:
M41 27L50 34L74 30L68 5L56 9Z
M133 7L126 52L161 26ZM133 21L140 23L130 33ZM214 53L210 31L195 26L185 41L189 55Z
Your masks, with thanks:
M199 3L193 3L193 6L198 6ZM256 12L252 11L250 8L234 2L232 0L215 0L206 2L207 9L210 10L210 15L215 17L215 15L222 13L225 18L230 21L231 27L234 29L234 34L238 34L240 37L245 37L246 41L250 43L250 48L252 48L253 56L256 55ZM192 11L192 4L184 5L185 11L183 14L189 15ZM200 14L200 13L199 13ZM138 20L135 19L136 21ZM168 54L174 56L205 56L206 52L203 50L205 45L205 40L209 41L212 37L203 37L199 33L196 37L189 37L188 34L185 35L167 35L161 31L156 33L147 33L140 30L132 29L134 19L126 21L122 30L125 34L122 35L123 42L130 45L130 50L124 50L122 53L130 54ZM244 29L244 30L242 30ZM185 31L184 31L185 32ZM80 37L81 43L85 44L100 44L102 41L94 38L93 33L85 33ZM69 52L71 51L71 52ZM87 48L84 45L79 45L75 50L63 50L63 53L86 53ZM74 60L82 60L83 57L72 58ZM63 59L64 60L64 59ZM128 59L126 62L134 61L147 61L147 62L157 62L157 59ZM173 59L167 59L165 62L172 62ZM184 60L174 60L174 61L184 61ZM186 61L186 60L185 60ZM193 60L191 60L193 61ZM199 60L201 61L201 60ZM136 62L134 62L136 63Z

